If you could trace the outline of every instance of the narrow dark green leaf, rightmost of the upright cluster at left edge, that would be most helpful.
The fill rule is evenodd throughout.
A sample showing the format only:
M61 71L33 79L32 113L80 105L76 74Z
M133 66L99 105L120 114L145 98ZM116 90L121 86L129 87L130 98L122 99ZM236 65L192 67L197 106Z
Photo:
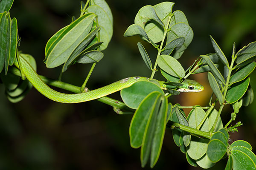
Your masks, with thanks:
M13 65L16 58L17 38L18 38L17 20L16 18L13 18L12 26L11 26L11 49L10 49L9 65Z

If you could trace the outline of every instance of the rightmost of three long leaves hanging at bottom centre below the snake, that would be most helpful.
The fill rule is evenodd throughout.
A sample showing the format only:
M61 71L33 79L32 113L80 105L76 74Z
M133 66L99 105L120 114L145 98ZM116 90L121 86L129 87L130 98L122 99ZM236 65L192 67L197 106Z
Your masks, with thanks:
M150 167L153 168L157 163L160 156L160 151L163 145L163 137L166 129L166 117L168 111L168 100L166 96L161 97L161 105L157 113L157 120L155 125L155 130L153 131L154 137L151 147L150 155Z

